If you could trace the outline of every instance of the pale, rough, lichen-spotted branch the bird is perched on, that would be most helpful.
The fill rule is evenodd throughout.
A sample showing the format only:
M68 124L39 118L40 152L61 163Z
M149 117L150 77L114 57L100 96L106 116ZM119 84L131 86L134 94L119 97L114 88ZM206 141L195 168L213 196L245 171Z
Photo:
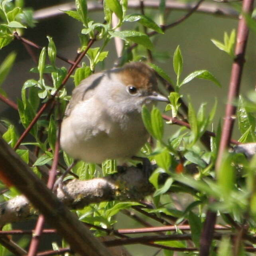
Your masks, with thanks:
M31 193L35 190L40 193L39 189L40 187L33 187ZM154 191L147 180L147 175L136 167L129 167L123 173L115 173L103 178L87 181L73 179L64 185L63 189L65 193L57 189L57 197L71 209L102 201L140 201ZM0 205L0 226L22 221L35 214L35 210L26 197L23 195L14 197Z

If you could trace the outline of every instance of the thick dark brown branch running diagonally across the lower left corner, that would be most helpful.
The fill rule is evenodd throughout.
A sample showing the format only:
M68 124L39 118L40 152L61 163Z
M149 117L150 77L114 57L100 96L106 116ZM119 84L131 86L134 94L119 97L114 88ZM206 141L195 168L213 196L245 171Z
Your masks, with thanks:
M83 256L110 256L108 250L98 242L89 229L47 189L43 181L31 171L30 167L10 148L3 138L0 138L0 167L1 173L4 173L14 186L26 195L33 206L45 216L47 222L63 235L74 252ZM23 196L18 198L29 205ZM8 205L8 202L6 203ZM15 201L12 201L11 204L9 201L9 207L12 203ZM8 211L7 208L6 210ZM29 205L28 211L30 212L30 210L32 210L31 205ZM3 214L6 216L6 213ZM22 214L24 213L19 207L12 213L16 218Z

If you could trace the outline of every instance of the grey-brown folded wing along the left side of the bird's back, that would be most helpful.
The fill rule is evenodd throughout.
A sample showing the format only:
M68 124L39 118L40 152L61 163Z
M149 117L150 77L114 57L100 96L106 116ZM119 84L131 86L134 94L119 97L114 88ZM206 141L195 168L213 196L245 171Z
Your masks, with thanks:
M68 117L71 114L71 111L73 110L77 102L81 100L86 100L93 95L92 89L94 89L100 83L103 77L104 73L100 72L90 75L89 77L81 81L80 85L77 86L72 92L71 100L69 101L69 104L67 105L65 110L65 117Z

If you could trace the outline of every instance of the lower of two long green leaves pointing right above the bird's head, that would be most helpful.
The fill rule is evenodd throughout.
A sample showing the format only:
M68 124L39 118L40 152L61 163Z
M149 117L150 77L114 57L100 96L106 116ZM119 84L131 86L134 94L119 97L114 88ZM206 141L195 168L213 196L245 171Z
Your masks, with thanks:
M154 45L150 41L148 35L142 32L138 32L134 30L124 30L124 31L109 31L108 33L112 37L120 37L123 40L140 44L150 50L154 48Z

